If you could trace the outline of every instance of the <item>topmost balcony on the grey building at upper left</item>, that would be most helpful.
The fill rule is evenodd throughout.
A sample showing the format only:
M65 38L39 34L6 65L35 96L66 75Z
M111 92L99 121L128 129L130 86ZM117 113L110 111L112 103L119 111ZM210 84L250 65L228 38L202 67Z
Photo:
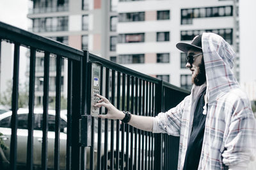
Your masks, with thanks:
M37 8L30 8L29 14L37 14L37 13L51 13L51 12L67 12L68 11L68 4L64 6L48 6L48 7L37 7Z

